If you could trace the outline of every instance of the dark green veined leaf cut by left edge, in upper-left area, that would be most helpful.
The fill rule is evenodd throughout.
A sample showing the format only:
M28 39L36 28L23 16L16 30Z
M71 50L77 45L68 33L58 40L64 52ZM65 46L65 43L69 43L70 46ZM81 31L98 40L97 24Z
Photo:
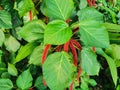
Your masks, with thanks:
M0 28L12 28L11 15L5 10L0 10Z

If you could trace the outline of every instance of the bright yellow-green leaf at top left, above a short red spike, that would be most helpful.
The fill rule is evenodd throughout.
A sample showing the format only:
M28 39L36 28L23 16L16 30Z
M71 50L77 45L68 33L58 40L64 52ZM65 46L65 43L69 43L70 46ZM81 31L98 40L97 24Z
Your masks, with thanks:
M32 0L19 0L17 2L17 10L20 15L20 17L24 16L25 13L30 11L32 8L34 8L34 3Z

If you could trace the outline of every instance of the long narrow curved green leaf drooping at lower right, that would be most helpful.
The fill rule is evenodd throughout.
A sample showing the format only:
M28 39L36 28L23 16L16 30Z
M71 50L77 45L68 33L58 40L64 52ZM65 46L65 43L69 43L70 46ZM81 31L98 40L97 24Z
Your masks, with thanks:
M102 55L103 57L105 57L105 59L107 60L107 63L109 65L110 72L112 75L113 82L116 85L118 76L117 76L117 68L115 65L115 61L111 57L109 57L101 48L97 48L97 53Z

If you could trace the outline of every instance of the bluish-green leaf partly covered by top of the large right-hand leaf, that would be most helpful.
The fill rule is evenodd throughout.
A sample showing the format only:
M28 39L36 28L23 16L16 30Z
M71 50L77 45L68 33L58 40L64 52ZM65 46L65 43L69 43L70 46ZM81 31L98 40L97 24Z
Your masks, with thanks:
M87 8L81 9L77 13L77 15L79 17L80 22L88 21L88 20L103 22L103 15L100 12L98 12L95 8L87 7Z

